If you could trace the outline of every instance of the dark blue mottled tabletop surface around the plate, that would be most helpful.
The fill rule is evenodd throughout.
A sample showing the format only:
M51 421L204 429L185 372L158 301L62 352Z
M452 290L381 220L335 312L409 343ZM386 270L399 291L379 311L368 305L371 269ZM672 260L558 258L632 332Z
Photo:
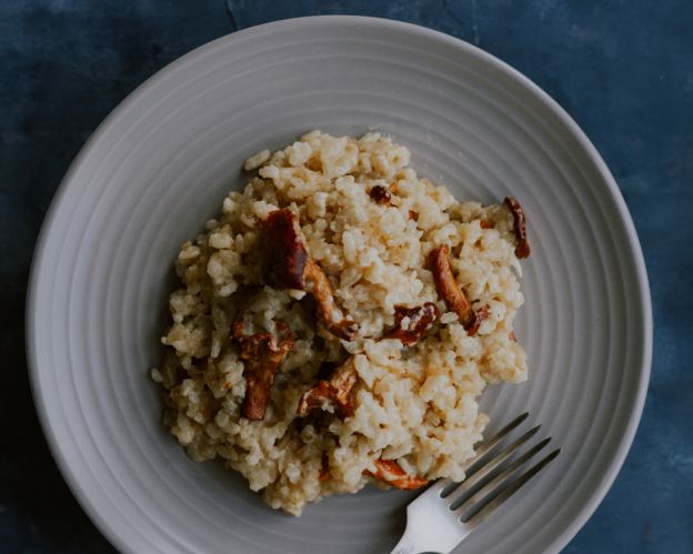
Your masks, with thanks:
M0 551L111 552L48 452L23 312L41 220L98 123L157 70L237 29L297 16L401 19L480 46L563 105L633 214L654 302L643 420L569 553L693 552L693 4L687 0L0 1Z

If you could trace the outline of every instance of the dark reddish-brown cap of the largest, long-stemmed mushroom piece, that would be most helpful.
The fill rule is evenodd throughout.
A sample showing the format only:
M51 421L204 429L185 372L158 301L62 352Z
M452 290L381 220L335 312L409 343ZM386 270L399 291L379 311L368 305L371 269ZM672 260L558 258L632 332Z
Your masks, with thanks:
M264 279L277 289L305 290L303 270L308 252L303 245L295 214L284 208L270 212L264 222L268 248Z

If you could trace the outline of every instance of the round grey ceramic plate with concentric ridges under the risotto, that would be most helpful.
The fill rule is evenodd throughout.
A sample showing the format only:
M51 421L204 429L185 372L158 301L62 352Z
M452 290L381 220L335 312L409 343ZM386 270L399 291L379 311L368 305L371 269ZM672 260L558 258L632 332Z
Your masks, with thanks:
M158 363L172 262L242 161L320 128L409 147L459 198L512 193L533 254L518 336L530 381L492 387L491 431L529 410L563 453L474 532L468 553L555 552L613 482L651 362L643 258L623 199L575 123L481 50L393 21L324 17L219 39L172 63L99 128L53 201L28 308L37 406L94 523L129 552L384 552L399 492L273 512L235 474L185 457L160 425Z

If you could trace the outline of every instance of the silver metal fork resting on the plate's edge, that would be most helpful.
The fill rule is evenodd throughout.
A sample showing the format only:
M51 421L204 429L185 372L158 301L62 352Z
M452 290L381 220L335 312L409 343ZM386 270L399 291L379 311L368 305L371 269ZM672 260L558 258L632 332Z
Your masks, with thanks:
M528 413L519 415L493 437L483 442L476 449L474 457L466 463L465 472L526 420L528 415ZM492 459L472 469L462 483L453 483L449 479L433 483L406 507L406 530L391 554L452 551L503 502L559 455L561 449L554 450L512 480L513 474L551 441L551 437L544 439L484 482L484 477L518 452L536 434L539 427L540 425L532 427Z

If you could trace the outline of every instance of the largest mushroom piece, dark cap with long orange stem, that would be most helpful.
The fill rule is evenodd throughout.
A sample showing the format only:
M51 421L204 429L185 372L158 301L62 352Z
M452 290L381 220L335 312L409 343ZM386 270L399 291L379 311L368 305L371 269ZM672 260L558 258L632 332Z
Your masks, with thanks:
M318 318L332 334L353 341L359 325L338 309L330 280L322 268L308 255L297 215L283 208L270 212L264 222L268 252L264 279L275 289L308 290L318 303Z

